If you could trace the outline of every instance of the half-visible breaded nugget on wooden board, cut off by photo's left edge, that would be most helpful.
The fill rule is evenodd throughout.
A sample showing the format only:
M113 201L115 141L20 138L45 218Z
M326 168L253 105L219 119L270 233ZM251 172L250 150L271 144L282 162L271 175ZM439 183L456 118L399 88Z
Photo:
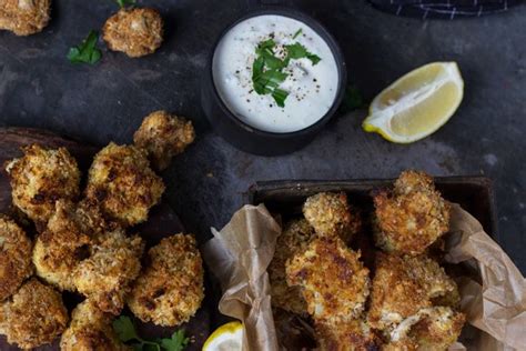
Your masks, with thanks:
M0 301L12 295L31 277L31 240L12 220L0 215Z

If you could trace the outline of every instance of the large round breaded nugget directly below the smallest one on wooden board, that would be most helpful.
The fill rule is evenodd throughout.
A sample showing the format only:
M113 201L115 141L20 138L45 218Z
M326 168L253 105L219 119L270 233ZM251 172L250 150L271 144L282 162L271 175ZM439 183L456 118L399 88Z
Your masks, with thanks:
M163 192L164 183L150 168L144 150L112 142L95 156L85 190L88 199L123 225L145 221Z

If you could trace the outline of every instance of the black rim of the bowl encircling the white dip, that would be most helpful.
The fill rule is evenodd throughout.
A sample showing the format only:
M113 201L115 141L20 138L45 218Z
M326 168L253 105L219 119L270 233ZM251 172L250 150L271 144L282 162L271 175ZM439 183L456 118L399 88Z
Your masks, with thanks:
M331 52L333 53L334 61L336 62L336 69L337 69L337 74L338 74L338 84L336 89L336 94L334 98L334 101L331 106L331 108L325 112L324 116L322 116L316 122L313 124L300 129L296 131L292 132L284 132L284 133L279 133L279 132L270 132L270 131L264 131L261 129L257 129L255 127L250 126L249 123L242 121L237 116L235 116L234 112L232 112L221 98L218 88L215 86L214 81L214 74L213 74L213 60L215 56L215 50L218 49L219 43L221 40L224 38L224 36L235 26L239 23L254 17L259 16L265 16L265 14L276 14L276 16L283 16L287 18L292 18L294 20L297 20L300 22L303 22L305 26L310 27L312 30L314 30L328 46ZM249 12L245 12L237 19L235 19L233 22L231 22L229 26L226 26L219 34L219 37L215 39L214 44L212 47L212 50L209 54L208 58L208 67L206 67L206 76L209 76L209 80L211 83L211 90L212 94L214 96L214 99L218 100L218 104L222 112L230 119L232 120L237 127L241 127L242 129L257 134L260 137L265 137L265 138L273 138L273 139L289 139L291 137L302 137L302 136L310 136L312 133L315 133L322 129L323 126L325 126L336 113L340 104L342 103L343 97L345 94L345 87L347 83L347 70L346 70L346 63L345 63L345 58L342 53L342 50L334 37L331 34L331 32L316 19L312 18L311 16L306 14L303 11L296 10L296 9L291 9L282 6L273 6L272 8L261 8L261 9L255 9L255 10L250 10Z

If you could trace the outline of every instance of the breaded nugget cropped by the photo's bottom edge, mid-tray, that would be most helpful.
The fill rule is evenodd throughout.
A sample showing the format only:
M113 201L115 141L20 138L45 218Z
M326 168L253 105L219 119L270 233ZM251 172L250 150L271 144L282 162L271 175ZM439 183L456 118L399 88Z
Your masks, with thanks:
M335 324L315 322L321 351L374 351L382 340L366 321L355 319Z

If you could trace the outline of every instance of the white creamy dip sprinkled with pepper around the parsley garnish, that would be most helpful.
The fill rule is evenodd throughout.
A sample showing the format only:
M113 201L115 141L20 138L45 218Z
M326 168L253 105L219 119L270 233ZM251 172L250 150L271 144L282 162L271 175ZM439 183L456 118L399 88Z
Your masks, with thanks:
M283 108L271 94L257 94L253 89L257 44L271 38L276 47L297 42L321 58L317 64L307 58L290 61L284 69L289 76L279 87L289 93ZM213 58L213 79L223 102L243 122L286 133L314 124L331 109L338 71L327 43L313 29L289 17L265 14L244 20L222 38Z

